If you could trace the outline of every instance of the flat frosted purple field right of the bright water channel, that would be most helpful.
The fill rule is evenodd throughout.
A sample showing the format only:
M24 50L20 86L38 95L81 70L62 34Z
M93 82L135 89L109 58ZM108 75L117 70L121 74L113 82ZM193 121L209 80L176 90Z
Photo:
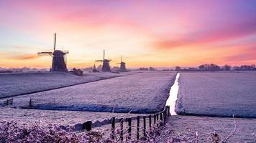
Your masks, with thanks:
M178 114L256 117L256 71L181 72Z

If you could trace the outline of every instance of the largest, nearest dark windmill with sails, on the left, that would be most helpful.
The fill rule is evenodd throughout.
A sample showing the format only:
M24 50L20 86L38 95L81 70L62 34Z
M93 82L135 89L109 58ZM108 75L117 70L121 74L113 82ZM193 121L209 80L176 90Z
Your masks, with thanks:
M68 72L67 63L66 63L66 59L67 59L66 54L68 53L69 53L68 51L56 50L56 34L54 34L53 51L42 51L42 52L38 52L37 54L40 54L40 55L49 54L50 56L52 56L52 68L50 69L50 71Z

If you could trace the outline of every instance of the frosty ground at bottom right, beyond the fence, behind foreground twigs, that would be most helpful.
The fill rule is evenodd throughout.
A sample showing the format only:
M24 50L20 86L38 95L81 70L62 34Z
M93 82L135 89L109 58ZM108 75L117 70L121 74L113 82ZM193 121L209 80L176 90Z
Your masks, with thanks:
M254 142L252 133L256 133L256 119L237 118L237 130L228 142ZM174 129L175 134L187 134L191 137L198 132L199 142L211 142L207 140L210 133L216 131L224 139L224 136L230 134L234 130L233 118L225 117L194 117L194 116L172 116L168 119L166 129ZM161 132L166 132L166 129ZM166 142L164 137L161 141Z

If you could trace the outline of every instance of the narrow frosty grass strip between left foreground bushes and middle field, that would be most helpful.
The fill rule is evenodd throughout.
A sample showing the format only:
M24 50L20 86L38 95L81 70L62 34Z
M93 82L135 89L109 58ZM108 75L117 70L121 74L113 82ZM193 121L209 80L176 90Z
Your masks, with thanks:
M141 114L140 114L141 115ZM0 120L16 120L17 122L33 123L35 121L54 122L61 125L75 125L86 121L102 122L111 117L136 117L138 114L109 112L77 112L41 109L14 109L0 107Z

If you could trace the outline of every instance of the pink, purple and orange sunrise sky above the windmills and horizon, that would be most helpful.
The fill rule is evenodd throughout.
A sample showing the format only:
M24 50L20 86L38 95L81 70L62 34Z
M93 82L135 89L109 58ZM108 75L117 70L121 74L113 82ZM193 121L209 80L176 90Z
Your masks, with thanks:
M0 0L1 67L50 68L54 33L69 68L256 64L256 1Z

